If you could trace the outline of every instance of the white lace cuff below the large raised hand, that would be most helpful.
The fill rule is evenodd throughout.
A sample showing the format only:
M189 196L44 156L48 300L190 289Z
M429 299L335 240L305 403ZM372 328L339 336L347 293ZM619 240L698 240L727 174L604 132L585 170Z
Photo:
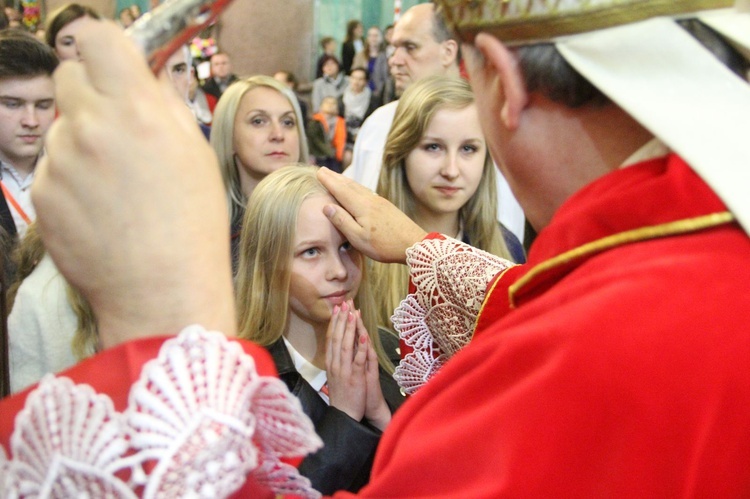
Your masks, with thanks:
M280 461L320 448L283 382L220 333L190 326L162 346L128 407L47 375L0 447L3 497L226 497L251 475L279 494L319 497Z

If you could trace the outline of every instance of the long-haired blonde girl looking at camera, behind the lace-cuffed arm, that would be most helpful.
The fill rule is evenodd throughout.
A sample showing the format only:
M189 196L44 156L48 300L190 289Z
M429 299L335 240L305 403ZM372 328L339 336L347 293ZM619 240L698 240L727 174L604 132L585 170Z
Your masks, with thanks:
M436 76L411 85L386 139L377 193L428 232L520 263L523 247L496 218L495 176L468 82ZM408 269L373 262L372 282L378 325L392 329Z

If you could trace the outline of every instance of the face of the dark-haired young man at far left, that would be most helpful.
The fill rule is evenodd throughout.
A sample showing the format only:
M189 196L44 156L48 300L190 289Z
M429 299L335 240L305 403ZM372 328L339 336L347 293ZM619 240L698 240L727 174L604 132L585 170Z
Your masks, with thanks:
M55 87L47 75L0 79L0 159L29 167L55 118Z

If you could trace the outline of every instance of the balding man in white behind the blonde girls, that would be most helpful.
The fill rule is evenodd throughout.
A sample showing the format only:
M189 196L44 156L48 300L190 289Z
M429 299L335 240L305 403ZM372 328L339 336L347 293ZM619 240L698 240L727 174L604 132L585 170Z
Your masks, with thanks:
M459 46L432 3L417 4L396 23L391 41L395 47L388 63L396 93L413 82L434 75L459 75ZM362 125L354 143L351 165L344 175L375 190L383 149L396 114L398 101L376 109ZM523 241L524 215L502 175L498 175L498 220Z

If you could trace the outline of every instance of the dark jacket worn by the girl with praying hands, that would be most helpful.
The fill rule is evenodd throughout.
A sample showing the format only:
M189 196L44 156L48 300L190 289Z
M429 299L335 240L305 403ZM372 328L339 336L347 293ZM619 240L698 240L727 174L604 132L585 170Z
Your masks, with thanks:
M355 421L323 401L317 391L294 368L284 340L266 347L273 357L279 377L302 404L302 410L315 425L324 447L307 456L299 471L312 486L329 495L337 490L356 492L370 480L375 449L381 431L366 421ZM404 401L393 377L380 370L380 387L388 407L395 411Z

